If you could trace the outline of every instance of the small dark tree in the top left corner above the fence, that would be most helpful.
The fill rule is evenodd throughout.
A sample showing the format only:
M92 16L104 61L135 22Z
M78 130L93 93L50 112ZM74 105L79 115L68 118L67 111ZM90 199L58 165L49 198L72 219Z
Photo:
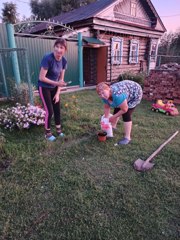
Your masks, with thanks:
M16 23L18 21L17 6L14 3L3 3L2 21L5 23Z

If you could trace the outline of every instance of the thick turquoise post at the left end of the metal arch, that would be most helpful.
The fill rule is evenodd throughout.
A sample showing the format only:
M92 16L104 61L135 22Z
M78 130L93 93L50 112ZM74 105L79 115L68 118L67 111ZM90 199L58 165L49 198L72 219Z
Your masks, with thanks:
M11 23L7 23L6 31L7 31L9 48L16 48L16 42L14 38L14 26ZM19 73L17 52L12 52L12 66L13 66L13 73L14 73L16 84L19 85L21 83L21 79L20 79L20 73Z

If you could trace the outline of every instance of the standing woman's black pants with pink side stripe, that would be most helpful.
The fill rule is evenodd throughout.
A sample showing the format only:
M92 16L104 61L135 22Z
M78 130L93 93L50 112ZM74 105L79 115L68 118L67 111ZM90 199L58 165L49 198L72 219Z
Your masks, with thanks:
M57 92L57 87L55 88L45 88L39 87L39 94L46 111L45 116L45 129L50 129L51 119L54 113L54 120L56 125L61 124L61 113L60 113L60 102L54 103L54 96Z

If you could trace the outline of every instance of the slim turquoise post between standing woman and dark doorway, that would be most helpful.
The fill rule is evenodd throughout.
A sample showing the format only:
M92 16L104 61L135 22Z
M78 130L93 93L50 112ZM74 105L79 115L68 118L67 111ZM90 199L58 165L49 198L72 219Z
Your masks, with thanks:
M83 48L82 48L82 34L78 33L78 65L79 65L79 85L83 87Z

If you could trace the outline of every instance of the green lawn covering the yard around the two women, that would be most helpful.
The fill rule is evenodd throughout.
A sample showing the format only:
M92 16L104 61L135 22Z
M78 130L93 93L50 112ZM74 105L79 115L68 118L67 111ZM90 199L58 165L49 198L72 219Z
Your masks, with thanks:
M180 134L152 171L133 169L179 129L179 116L150 108L142 101L134 112L128 146L114 147L122 123L113 139L97 140L103 105L94 90L62 95L64 140L46 142L43 127L3 130L0 239L180 239Z

